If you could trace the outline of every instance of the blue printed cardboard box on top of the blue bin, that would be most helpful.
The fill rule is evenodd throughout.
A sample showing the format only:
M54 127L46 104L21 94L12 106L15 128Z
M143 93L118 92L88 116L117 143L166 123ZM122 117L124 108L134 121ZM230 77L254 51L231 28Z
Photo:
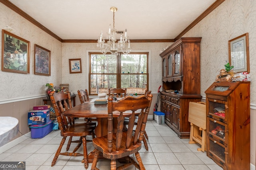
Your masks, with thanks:
M31 110L28 112L28 125L46 124L50 121L50 111Z

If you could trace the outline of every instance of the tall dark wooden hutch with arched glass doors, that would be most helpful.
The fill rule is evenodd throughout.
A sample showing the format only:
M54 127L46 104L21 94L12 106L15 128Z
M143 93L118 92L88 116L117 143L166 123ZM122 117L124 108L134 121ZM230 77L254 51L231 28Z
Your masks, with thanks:
M180 138L189 138L189 102L200 102L200 42L183 37L163 51L161 111L165 122Z

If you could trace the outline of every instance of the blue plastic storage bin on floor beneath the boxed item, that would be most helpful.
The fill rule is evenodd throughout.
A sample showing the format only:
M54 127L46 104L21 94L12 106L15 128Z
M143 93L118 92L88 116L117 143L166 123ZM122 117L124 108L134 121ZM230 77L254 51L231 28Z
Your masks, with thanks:
M48 135L53 128L53 121L50 120L47 124L31 125L31 138L43 138Z

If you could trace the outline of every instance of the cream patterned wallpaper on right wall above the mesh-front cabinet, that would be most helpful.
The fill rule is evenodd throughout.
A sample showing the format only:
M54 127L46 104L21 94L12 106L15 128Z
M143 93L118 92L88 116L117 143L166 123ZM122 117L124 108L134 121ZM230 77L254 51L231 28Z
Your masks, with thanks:
M250 102L256 106L256 1L226 0L184 37L202 37L201 95L228 62L228 41L249 34Z

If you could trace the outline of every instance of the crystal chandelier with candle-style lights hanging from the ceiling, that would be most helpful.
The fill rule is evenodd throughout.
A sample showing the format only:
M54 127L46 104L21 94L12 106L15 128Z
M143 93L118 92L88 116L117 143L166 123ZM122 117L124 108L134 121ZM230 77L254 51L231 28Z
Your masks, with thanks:
M101 31L100 37L98 38L97 47L100 48L100 53L103 54L106 54L108 51L115 55L117 55L120 52L128 54L130 53L130 51L132 51L132 49L130 47L130 39L127 36L127 29L125 29L125 32L117 31L115 29L115 12L117 11L117 8L111 7L110 11L113 12L113 28L111 29L110 24L107 32L107 43L105 43L105 39L103 38ZM120 34L120 40L116 42L117 34Z

